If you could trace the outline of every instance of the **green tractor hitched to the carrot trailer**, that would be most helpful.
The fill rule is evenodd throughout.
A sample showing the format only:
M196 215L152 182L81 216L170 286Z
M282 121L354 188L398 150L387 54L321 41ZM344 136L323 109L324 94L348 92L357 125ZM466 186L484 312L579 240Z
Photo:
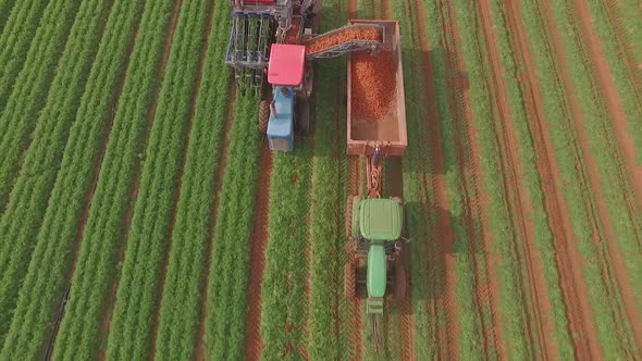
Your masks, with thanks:
M386 294L397 300L407 297L407 277L402 262L404 208L402 199L348 198L346 208L348 262L344 273L344 292L362 297L366 285L366 312L383 314Z

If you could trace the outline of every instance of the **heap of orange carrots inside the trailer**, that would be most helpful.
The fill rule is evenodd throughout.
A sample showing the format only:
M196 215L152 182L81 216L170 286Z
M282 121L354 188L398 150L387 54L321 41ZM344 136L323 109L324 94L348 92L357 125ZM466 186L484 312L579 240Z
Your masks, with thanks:
M396 96L397 62L392 51L351 54L351 112L355 119L379 122ZM396 124L395 124L396 125Z

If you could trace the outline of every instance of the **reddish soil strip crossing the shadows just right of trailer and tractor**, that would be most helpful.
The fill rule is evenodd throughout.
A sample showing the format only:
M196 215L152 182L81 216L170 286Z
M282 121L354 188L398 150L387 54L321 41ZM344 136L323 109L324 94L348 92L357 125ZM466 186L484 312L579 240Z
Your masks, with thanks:
M434 165L434 175L429 175L429 178L423 180L423 189L434 189L435 206L439 210L444 210L437 211L436 233L433 237L433 239L436 240L436 247L432 248L430 250L430 254L428 254L430 259L429 272L437 275L435 277L430 277L431 287L433 289L439 289L440 285L437 283L442 282L441 287L443 287L443 294L435 295L430 313L435 320L437 320L439 314L444 312L446 315L446 324L448 325L444 327L444 325L440 322L435 322L434 324L437 335L437 358L450 358L458 360L459 348L457 347L457 340L459 338L459 323L457 322L457 297L455 295L456 279L454 272L455 257L453 256L455 232L450 225L449 213L445 211L449 209L449 202L446 183L444 179L446 167L444 164L443 149L441 147L441 132L439 127L439 120L436 119L436 96L434 85L432 83L433 65L430 55L432 49L427 38L427 15L423 1L415 0L413 10L417 14L416 21L419 28L418 41L421 47L421 65L424 74L423 86L425 89L429 108L428 119L425 120L429 132L427 138L429 139L430 154L432 154L432 163ZM412 13L411 8L409 9L408 13ZM430 163L431 161L428 160L429 154L423 155L423 162ZM424 211L430 212L430 209L424 208Z

